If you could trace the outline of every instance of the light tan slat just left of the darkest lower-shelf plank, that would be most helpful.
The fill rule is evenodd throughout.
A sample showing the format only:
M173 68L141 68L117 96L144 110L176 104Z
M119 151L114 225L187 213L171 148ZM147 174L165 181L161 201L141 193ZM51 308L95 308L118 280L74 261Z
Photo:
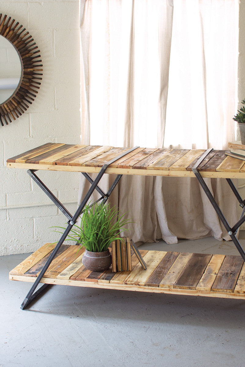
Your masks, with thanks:
M164 276L159 284L159 287L163 288L173 288L176 280L178 279L180 273L186 266L187 262L191 258L192 254L187 252L181 252L178 258L175 260L171 268L168 270L167 274Z

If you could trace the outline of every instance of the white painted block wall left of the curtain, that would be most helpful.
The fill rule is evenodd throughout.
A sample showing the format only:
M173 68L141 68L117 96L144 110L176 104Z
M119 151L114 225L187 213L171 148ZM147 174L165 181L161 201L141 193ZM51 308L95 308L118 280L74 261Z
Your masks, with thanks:
M80 143L80 30L78 0L11 0L0 5L1 13L32 34L44 69L28 112L0 128L0 255L6 255L58 240L49 227L67 222L26 171L7 168L6 160L47 142ZM61 202L77 200L78 173L37 175ZM77 208L76 203L65 206L72 214Z

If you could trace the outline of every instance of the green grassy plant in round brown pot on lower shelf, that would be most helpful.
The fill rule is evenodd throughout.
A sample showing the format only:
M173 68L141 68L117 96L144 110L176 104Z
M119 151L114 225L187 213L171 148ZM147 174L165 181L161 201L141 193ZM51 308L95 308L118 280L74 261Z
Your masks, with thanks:
M120 232L125 230L123 227L126 224L131 223L123 218L125 214L121 217L118 214L118 210L111 208L110 204L87 205L84 207L80 226L74 225L70 230L66 240L76 241L81 247L85 247L83 265L88 270L102 271L110 267L111 254L108 247L114 240L122 241Z

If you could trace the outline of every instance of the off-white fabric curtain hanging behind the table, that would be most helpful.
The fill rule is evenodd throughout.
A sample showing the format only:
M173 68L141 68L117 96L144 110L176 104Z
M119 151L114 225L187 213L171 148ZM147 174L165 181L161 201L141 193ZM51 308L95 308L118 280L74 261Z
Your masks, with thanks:
M81 1L82 141L227 148L234 140L238 1ZM105 175L104 189L114 177ZM238 206L207 179L226 219ZM88 188L81 178L79 200ZM196 179L123 176L110 197L134 241L229 239Z

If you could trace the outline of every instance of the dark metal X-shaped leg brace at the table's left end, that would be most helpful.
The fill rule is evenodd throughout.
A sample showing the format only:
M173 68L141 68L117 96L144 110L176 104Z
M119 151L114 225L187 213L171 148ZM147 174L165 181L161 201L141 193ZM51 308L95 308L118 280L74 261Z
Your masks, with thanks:
M103 200L102 204L104 204L108 200L110 194L113 192L113 190L116 187L117 183L119 182L122 175L117 175L116 179L114 180L113 184L111 185L111 187L109 188L109 190L107 191L106 194L98 187L98 183L99 183L100 179L102 178L102 176L104 175L104 173L106 171L106 168L111 163L113 163L114 161L120 159L121 157L125 156L126 154L132 152L132 150L135 150L136 148L138 148L138 146L135 146L134 148L128 149L126 152L121 153L120 155L114 157L113 159L111 159L110 161L105 163L103 165L103 167L101 168L101 170L99 171L99 173L96 176L94 181L91 179L91 177L89 177L89 175L85 174L85 177L91 183L91 187L88 189L87 194L85 195L84 199L82 200L81 204L79 205L79 207L77 208L77 210L76 210L76 212L73 216L69 213L69 211L66 210L66 208L60 203L60 201L54 196L54 194L47 188L47 186L44 185L44 183L40 180L40 178L37 177L36 174L34 174L35 170L28 170L28 174L33 178L33 180L37 183L37 185L39 185L39 187L46 193L46 195L48 197L50 197L50 199L63 212L63 214L65 214L65 216L69 219L69 221L68 221L67 228L65 229L64 233L62 234L61 238L59 239L58 243L56 244L54 250L51 252L50 257L47 259L47 262L45 263L45 265L44 265L43 269L41 270L39 276L37 277L37 279L34 282L33 286L30 288L30 291L26 295L26 298L22 302L22 305L21 305L22 310L25 309L26 306L28 306L28 304L33 301L33 299L35 299L38 295L40 295L40 293L45 288L47 288L48 285L50 285L50 284L48 284L48 285L44 284L42 287L39 288L39 290L37 290L34 293L34 291L36 290L38 284L40 283L44 273L48 269L48 266L51 264L52 260L54 259L55 255L58 252L59 248L61 247L62 243L65 241L65 239L68 236L68 234L69 234L70 230L72 229L73 225L76 223L77 218L82 214L83 209L84 209L85 205L87 204L89 198L91 197L92 193L94 192L94 190L98 190L98 192L100 192L100 194L102 194L102 197L99 200ZM97 200L97 201L99 201L99 200Z

